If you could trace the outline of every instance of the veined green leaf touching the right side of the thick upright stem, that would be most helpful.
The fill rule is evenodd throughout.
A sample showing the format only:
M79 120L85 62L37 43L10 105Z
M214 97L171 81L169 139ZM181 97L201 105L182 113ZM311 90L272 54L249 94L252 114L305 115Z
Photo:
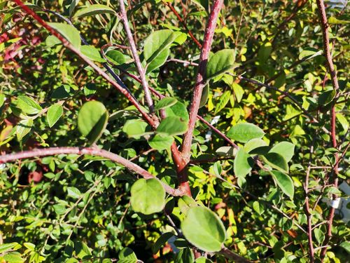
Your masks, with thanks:
M211 56L207 65L207 80L227 72L235 64L235 50L223 49Z

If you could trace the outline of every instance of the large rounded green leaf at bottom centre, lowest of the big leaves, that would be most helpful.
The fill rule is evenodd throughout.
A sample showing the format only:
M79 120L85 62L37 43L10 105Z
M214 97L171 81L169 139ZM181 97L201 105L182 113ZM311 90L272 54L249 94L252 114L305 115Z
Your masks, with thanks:
M203 206L188 209L181 230L190 243L206 252L220 251L226 238L225 227L218 215Z

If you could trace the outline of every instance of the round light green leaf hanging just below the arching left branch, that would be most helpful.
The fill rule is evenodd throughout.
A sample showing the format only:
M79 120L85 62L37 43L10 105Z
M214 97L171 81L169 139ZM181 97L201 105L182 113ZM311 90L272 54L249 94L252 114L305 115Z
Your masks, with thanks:
M141 178L132 185L130 201L135 212L158 213L165 207L165 190L157 179Z

